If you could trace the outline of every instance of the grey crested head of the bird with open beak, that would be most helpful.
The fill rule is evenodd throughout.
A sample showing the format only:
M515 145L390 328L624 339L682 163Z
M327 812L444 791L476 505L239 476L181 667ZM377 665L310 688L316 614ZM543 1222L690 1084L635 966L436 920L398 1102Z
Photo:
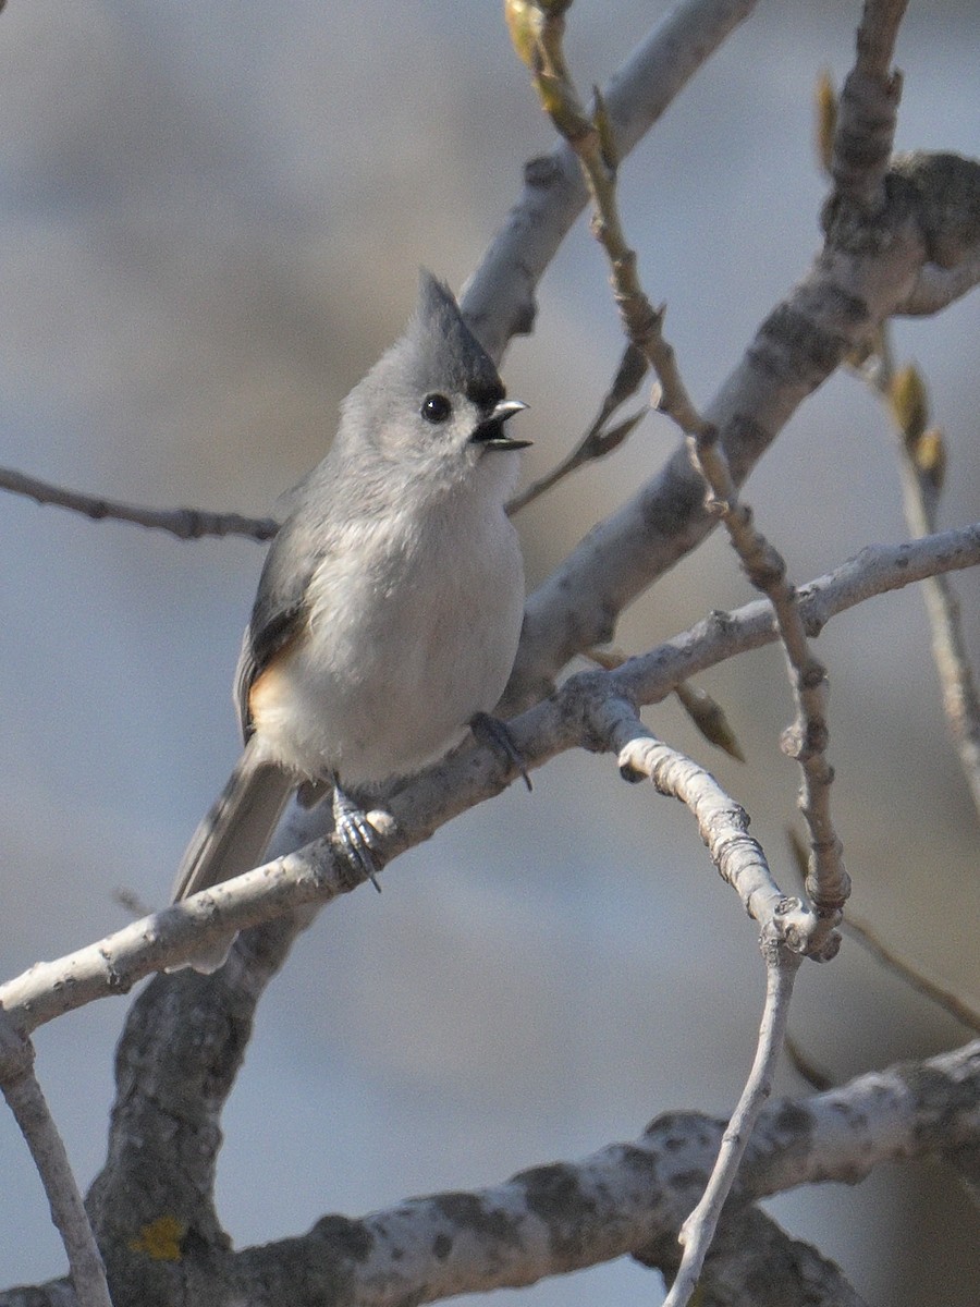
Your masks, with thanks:
M529 443L504 434L504 422L524 408L504 396L452 291L422 271L405 335L344 401L336 456L455 480Z

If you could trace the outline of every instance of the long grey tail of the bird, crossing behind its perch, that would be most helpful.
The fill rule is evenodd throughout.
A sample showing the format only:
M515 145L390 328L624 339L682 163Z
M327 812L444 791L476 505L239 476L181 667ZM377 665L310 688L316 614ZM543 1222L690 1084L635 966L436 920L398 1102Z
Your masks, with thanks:
M259 867L294 787L295 778L260 759L250 741L187 846L174 884L174 902ZM196 971L217 971L230 942L208 948L186 965Z

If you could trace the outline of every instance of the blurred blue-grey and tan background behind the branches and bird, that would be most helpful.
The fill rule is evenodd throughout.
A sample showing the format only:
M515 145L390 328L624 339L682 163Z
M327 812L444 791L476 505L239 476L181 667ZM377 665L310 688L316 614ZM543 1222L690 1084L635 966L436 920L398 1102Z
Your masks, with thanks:
M602 82L664 12L579 0L568 51ZM707 401L818 246L813 85L840 85L860 5L763 0L623 169L622 207L695 399ZM395 17L397 14L397 17ZM972 0L912 4L899 146L980 150ZM267 515L327 448L337 403L402 329L425 264L460 286L551 135L500 5L10 0L0 16L0 463L154 506ZM900 323L945 429L943 524L977 518L980 295ZM506 359L532 405L527 476L591 420L621 340L579 223ZM533 587L664 460L649 417L614 459L519 519ZM835 376L749 482L797 580L906 535L892 437ZM230 682L261 563L0 502L3 974L162 906L238 752ZM980 657L979 584L956 576ZM750 596L716 537L623 620L648 648ZM921 597L875 600L819 642L855 908L909 962L976 996L976 818L949 746ZM702 682L747 754L666 704L656 729L716 771L792 886L797 778L774 651ZM499 1182L632 1138L670 1108L727 1114L763 976L751 924L677 804L574 755L440 831L337 903L260 1009L229 1104L220 1206L238 1244L410 1193ZM853 942L808 967L797 1042L844 1080L967 1033ZM38 1070L88 1184L105 1154L125 1001L38 1031ZM780 1091L805 1093L785 1068ZM0 1282L63 1273L26 1149L0 1119ZM770 1204L874 1304L967 1307L977 1225L939 1166L883 1168ZM521 1295L648 1304L629 1260Z

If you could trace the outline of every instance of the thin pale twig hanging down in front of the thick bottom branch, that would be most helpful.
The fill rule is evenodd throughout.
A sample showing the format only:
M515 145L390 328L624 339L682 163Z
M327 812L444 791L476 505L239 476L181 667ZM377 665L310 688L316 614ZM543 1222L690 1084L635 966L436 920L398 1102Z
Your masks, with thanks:
M802 958L775 940L763 941L766 957L766 1004L759 1026L759 1040L751 1072L732 1114L711 1179L700 1202L681 1227L683 1256L664 1307L683 1307L698 1287L698 1278L711 1240L715 1236L721 1208L732 1191L738 1166L751 1138L755 1121L772 1093L779 1055L783 1051L793 982Z

